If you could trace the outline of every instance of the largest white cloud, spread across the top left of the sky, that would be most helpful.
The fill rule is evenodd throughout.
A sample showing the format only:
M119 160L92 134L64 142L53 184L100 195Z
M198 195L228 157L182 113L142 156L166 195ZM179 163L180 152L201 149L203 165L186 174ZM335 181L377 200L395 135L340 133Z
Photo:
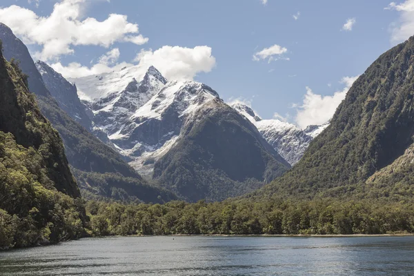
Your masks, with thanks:
M115 42L144 44L148 38L139 34L138 25L128 22L126 15L110 14L97 21L88 17L81 20L86 0L63 0L55 3L48 17L41 17L32 10L12 5L0 8L0 21L8 25L27 44L43 46L35 57L57 60L61 55L74 53L72 46L110 47Z

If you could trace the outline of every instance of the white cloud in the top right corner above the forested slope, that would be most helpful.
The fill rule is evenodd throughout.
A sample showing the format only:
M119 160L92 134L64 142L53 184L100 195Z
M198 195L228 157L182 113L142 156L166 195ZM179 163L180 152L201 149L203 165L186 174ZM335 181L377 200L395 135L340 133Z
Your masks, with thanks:
M400 43L414 34L414 0L400 4L391 2L385 9L400 12L398 22L391 27L391 43Z

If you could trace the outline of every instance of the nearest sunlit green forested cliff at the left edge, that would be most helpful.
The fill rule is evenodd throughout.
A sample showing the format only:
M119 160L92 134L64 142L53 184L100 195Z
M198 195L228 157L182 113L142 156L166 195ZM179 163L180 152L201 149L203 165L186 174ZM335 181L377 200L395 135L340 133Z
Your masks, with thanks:
M61 138L27 87L0 50L0 248L75 239L86 221Z

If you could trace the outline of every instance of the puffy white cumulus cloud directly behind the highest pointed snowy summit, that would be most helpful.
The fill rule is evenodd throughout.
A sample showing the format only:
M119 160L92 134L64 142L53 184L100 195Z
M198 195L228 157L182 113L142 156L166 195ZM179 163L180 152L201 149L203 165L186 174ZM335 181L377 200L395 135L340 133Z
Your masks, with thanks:
M193 79L197 73L210 72L215 66L215 57L208 46L162 46L155 51L141 50L135 61L155 66L167 79Z

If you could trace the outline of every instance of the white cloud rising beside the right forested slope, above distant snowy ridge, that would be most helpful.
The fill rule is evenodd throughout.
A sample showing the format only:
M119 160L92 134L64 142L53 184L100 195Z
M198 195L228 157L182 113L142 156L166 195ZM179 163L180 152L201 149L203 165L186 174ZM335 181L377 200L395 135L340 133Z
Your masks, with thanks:
M304 101L302 106L299 106L295 118L297 125L300 128L306 128L306 126L321 125L329 121L358 77L342 78L340 83L344 83L344 89L335 92L332 96L315 94L311 88L306 87Z

